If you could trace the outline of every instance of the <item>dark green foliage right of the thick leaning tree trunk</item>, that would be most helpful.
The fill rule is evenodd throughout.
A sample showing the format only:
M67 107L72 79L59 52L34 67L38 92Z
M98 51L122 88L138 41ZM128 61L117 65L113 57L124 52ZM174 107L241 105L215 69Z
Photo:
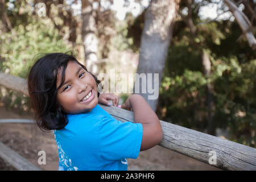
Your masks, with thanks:
M230 29L222 33L221 25L222 22L209 23L199 28L203 35L202 39L198 38L199 47L188 43L189 34L185 30L176 35L160 86L158 113L164 120L205 131L206 89L211 84L214 128L228 130L230 140L255 147L255 52L245 39L236 44L230 40L239 36L237 26L225 27ZM203 74L199 53L205 48L212 63L208 78Z

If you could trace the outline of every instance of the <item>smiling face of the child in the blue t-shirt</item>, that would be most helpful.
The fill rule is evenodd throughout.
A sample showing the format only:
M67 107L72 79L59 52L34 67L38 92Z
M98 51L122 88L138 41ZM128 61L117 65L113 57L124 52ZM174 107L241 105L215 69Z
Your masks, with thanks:
M56 88L61 84L61 72L57 73L56 84ZM58 90L56 98L68 114L90 111L98 104L96 81L79 64L69 61L64 84Z

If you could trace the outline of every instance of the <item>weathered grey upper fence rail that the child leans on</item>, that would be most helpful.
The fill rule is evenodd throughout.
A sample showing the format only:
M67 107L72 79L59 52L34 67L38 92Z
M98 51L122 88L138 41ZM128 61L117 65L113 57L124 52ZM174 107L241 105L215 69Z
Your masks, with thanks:
M0 85L28 95L26 80L0 72ZM119 121L134 121L133 112L101 105ZM160 121L163 140L159 146L225 170L256 170L256 148ZM213 157L216 156L216 164Z

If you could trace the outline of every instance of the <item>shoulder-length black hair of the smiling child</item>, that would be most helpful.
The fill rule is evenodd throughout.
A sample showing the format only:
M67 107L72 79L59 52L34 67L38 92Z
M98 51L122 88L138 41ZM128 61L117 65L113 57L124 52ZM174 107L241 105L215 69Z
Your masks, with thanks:
M56 94L65 80L65 69L69 61L74 61L87 71L86 67L79 63L73 53L69 51L44 54L36 61L28 74L27 85L30 105L35 112L36 124L43 131L60 130L68 123L67 113L57 102ZM62 68L61 84L56 88L57 71L60 68ZM98 86L100 81L92 73L90 74Z

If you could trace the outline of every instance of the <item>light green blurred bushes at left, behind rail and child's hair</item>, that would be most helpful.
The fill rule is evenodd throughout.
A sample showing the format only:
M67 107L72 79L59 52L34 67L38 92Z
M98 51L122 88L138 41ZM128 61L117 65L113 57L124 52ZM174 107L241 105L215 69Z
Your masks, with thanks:
M31 19L12 31L0 35L0 71L26 78L35 63L36 54L68 51L58 30L49 19ZM7 108L28 110L28 98L13 90L1 88L1 101Z

